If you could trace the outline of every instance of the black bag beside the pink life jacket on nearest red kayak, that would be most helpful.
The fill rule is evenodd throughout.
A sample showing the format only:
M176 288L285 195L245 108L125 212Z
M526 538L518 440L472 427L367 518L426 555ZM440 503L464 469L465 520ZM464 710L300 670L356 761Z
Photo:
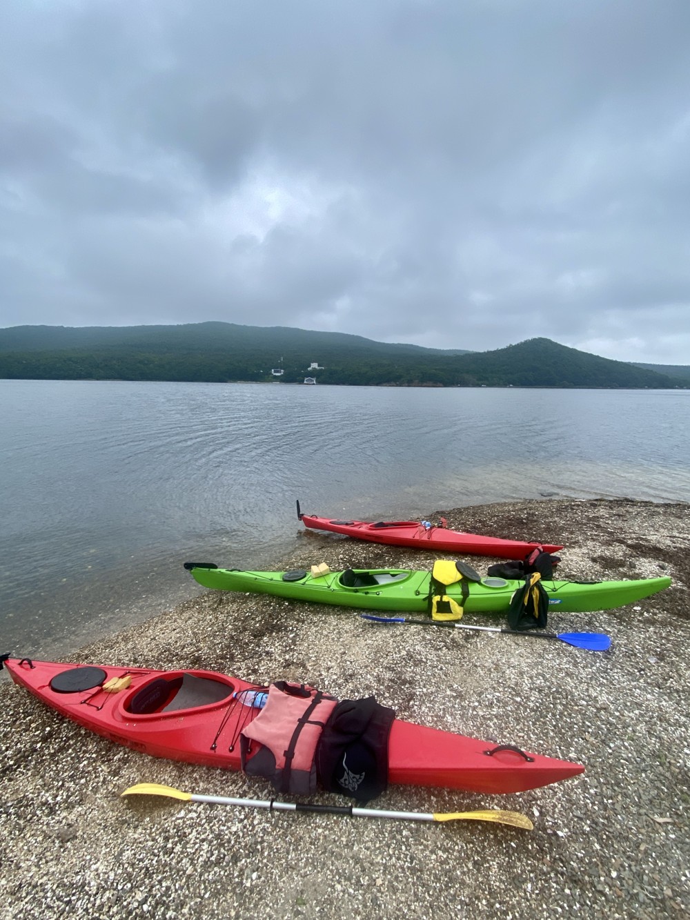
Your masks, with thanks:
M330 792L361 802L388 785L388 735L396 713L374 696L343 699L316 746L316 775Z

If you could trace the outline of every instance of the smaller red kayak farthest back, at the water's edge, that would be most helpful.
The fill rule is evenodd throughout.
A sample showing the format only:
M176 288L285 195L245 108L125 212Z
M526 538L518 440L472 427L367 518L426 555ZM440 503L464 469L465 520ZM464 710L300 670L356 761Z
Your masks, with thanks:
M534 540L503 540L498 536L480 536L449 530L445 526L444 518L438 524L430 521L331 521L316 514L301 512L299 501L297 517L305 527L312 530L328 530L333 534L354 536L358 540L370 540L372 543L385 543L388 546L437 549L443 553L471 553L502 559L523 559L537 546L546 553L555 553L563 548L552 543L537 543Z

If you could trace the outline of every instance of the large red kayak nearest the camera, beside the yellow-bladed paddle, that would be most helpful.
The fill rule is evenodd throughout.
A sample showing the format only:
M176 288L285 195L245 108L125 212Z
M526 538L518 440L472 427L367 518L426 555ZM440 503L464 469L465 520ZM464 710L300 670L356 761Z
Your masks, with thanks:
M28 658L2 662L16 684L90 731L135 751L240 769L239 734L266 689L213 671L150 671ZM244 693L247 691L248 693ZM472 792L523 792L578 776L580 764L394 719L388 781Z

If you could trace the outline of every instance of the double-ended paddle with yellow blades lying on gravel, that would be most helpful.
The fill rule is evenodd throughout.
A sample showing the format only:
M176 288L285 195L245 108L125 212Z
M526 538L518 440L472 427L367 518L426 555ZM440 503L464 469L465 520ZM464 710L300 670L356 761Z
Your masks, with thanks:
M277 802L273 799L225 799L221 796L192 795L171 786L157 783L138 783L121 793L123 796L167 796L187 802L208 802L211 805L241 805L246 808L265 808L269 811L312 811L323 814L342 814L351 818L397 818L401 821L491 821L510 824L532 831L534 824L519 811L383 811L383 809L355 808L352 805L308 805L297 802Z

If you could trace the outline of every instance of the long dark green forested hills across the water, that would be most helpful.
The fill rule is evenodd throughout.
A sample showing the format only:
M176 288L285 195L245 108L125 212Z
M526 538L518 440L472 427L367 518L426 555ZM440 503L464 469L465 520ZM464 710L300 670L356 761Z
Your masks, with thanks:
M319 366L310 369L309 365ZM282 374L274 375L273 370ZM0 378L387 386L690 387L550 339L497 351L387 344L339 332L193 323L0 329Z

